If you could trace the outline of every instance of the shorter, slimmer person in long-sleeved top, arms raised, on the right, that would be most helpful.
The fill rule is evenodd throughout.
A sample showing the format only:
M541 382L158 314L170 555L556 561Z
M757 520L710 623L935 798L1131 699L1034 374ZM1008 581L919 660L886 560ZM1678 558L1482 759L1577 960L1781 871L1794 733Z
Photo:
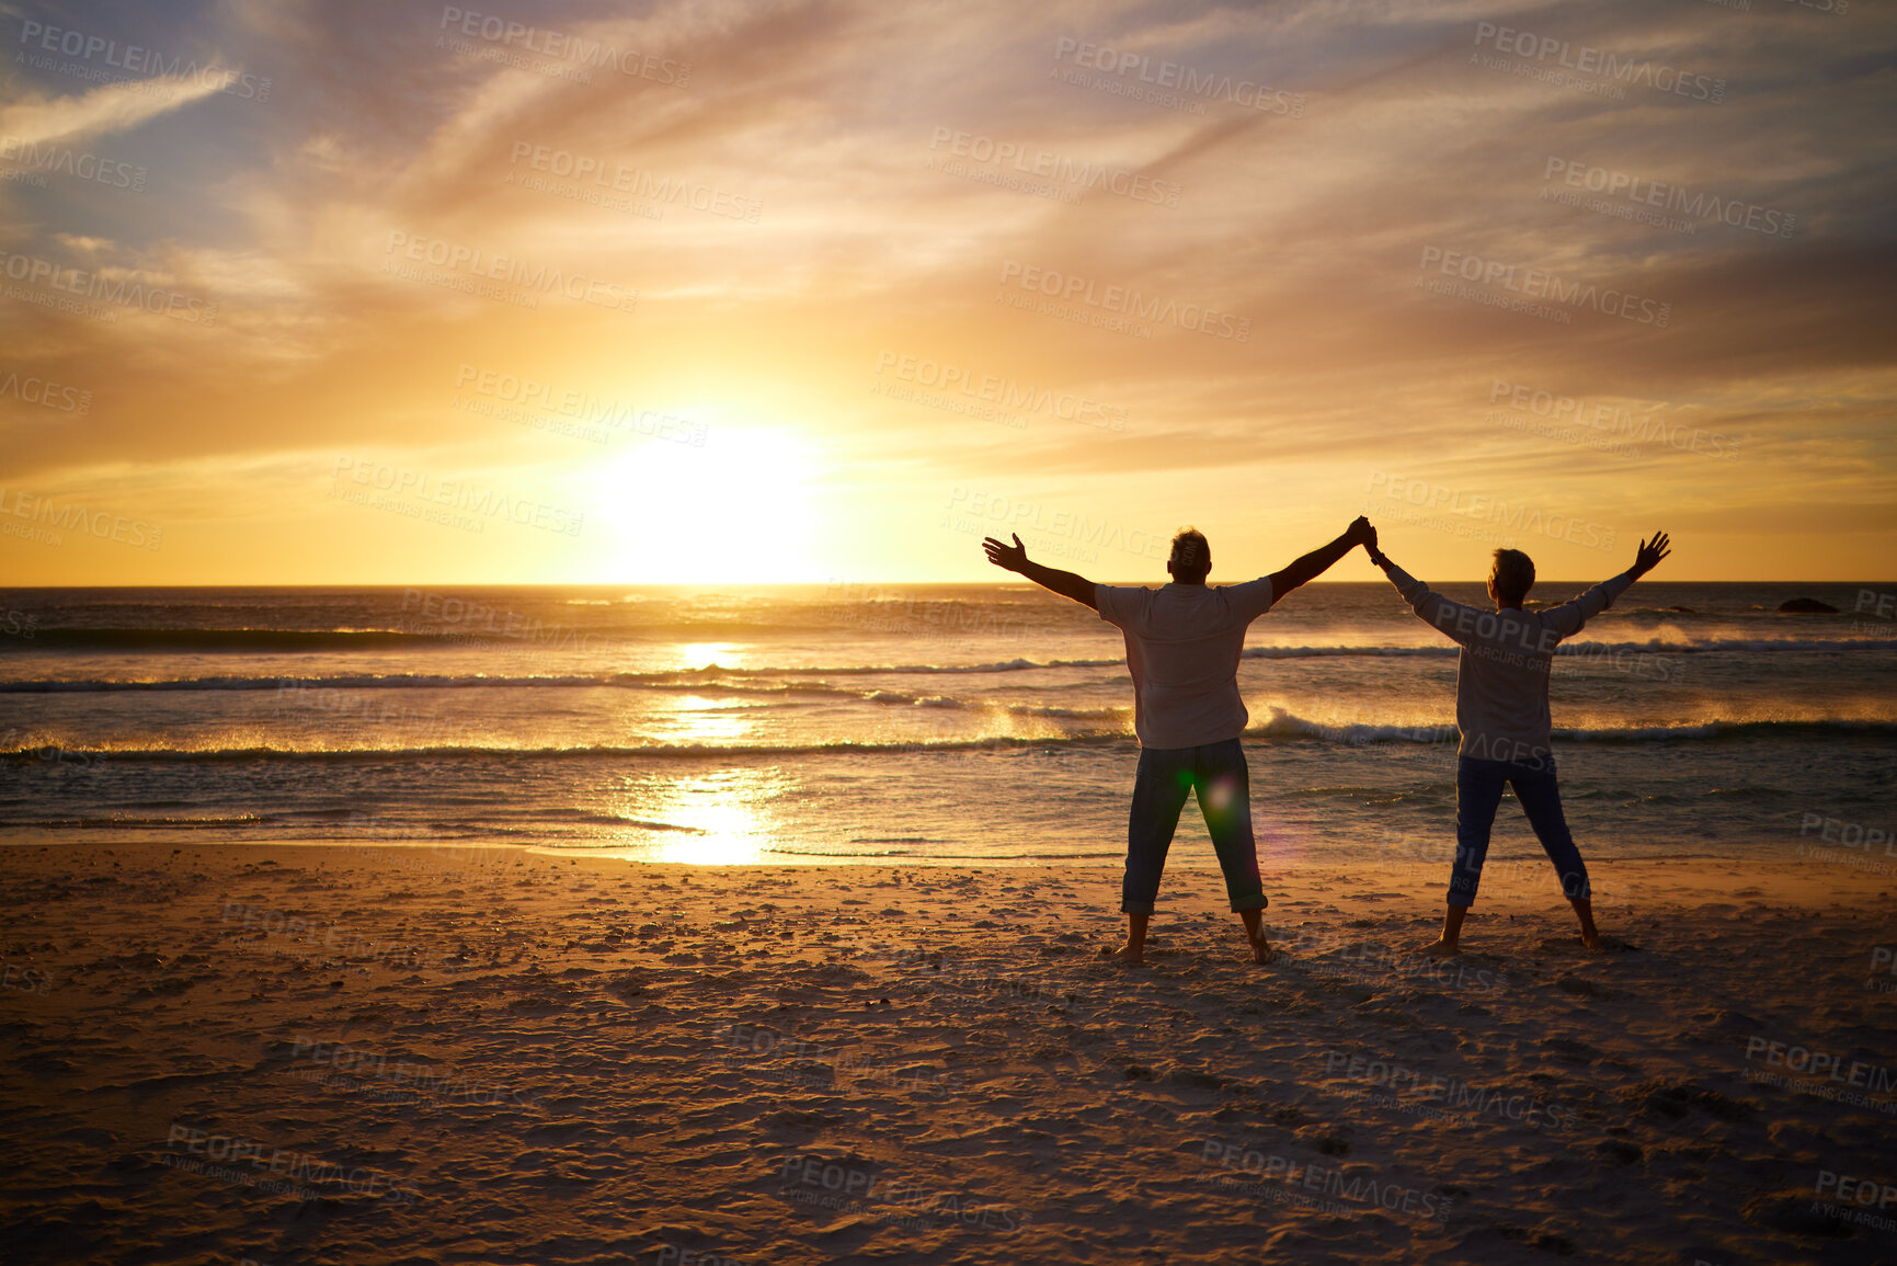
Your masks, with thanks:
M1580 943L1588 953L1605 953L1593 926L1588 867L1561 814L1561 788L1550 748L1548 670L1563 638L1578 634L1671 552L1667 535L1658 531L1652 541L1641 541L1633 566L1620 575L1601 581L1573 602L1533 613L1523 611L1521 602L1535 585L1535 562L1521 550L1495 550L1489 571L1489 602L1495 611L1466 607L1432 592L1377 549L1375 528L1370 530L1366 550L1409 609L1463 647L1455 664L1455 725L1463 738L1455 769L1455 864L1449 871L1442 936L1423 953L1459 953L1457 938L1463 917L1476 902L1502 784L1516 790L1535 837L1554 862L1561 894L1580 919Z

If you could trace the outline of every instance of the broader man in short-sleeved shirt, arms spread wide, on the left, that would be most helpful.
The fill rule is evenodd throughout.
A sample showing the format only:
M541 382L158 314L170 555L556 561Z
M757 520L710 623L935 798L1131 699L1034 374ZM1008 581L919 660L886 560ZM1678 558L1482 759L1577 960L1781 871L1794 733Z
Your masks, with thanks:
M1358 518L1330 545L1311 550L1282 571L1258 581L1208 588L1212 549L1195 528L1172 537L1163 588L1095 585L1072 571L1028 562L1013 547L988 537L981 547L988 562L1019 571L1036 585L1081 602L1115 624L1127 640L1133 674L1133 729L1140 736L1140 769L1133 780L1127 820L1127 875L1119 909L1127 915L1127 943L1112 957L1136 964L1146 951L1146 924L1159 896L1159 873L1178 828L1186 793L1199 797L1199 812L1212 833L1225 896L1244 921L1254 962L1271 962L1260 911L1269 903L1258 877L1258 845L1252 839L1250 773L1239 735L1250 714L1239 697L1239 657L1244 630L1254 619L1299 585L1318 577L1356 545L1372 537Z

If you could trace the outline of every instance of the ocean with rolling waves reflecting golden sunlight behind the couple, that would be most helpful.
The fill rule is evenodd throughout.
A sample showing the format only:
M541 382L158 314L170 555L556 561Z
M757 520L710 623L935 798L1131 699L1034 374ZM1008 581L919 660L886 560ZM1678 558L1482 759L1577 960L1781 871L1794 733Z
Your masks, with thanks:
M1593 619L1552 680L1584 856L1891 875L1893 590L1652 581ZM1239 683L1267 869L1446 871L1455 651L1389 585L1294 592ZM1024 585L0 590L11 845L1117 866L1136 759L1119 632ZM1193 805L1172 858L1212 862ZM1504 801L1489 866L1538 858Z

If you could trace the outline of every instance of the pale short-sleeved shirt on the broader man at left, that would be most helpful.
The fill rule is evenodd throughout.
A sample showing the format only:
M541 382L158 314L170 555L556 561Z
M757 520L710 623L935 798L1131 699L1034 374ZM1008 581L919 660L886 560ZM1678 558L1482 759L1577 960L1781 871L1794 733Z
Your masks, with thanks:
M1146 748L1197 748L1244 733L1244 628L1271 609L1269 579L1244 585L1095 585L1100 619L1127 638L1133 731Z

